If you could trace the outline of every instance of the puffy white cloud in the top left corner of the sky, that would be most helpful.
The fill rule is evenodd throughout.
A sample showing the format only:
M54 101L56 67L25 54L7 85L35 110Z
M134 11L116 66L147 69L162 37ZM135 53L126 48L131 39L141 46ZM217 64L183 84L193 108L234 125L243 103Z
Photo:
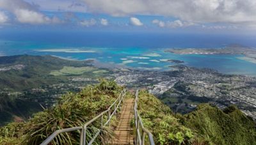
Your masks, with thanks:
M49 18L37 10L38 6L23 0L0 0L0 8L10 11L20 23L50 24L60 22L58 18Z

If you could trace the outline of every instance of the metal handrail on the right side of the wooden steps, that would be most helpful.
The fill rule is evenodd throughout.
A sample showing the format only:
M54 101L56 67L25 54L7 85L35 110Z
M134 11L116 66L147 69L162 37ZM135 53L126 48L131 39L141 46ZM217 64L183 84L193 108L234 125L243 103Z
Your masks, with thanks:
M144 127L143 122L140 117L140 113L138 112L138 99L139 99L139 90L136 90L135 94L135 103L134 103L134 122L136 127L136 144L144 145L145 144L145 137L148 135L148 141L150 145L155 145L153 135L147 128ZM142 137L141 137L141 133Z

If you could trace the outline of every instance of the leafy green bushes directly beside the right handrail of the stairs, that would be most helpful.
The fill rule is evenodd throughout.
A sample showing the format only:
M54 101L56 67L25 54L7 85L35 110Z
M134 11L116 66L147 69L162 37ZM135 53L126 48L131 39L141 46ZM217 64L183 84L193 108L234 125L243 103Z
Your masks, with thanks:
M145 90L139 93L138 110L143 123L155 137L156 144L189 144L194 135L188 127L154 95Z

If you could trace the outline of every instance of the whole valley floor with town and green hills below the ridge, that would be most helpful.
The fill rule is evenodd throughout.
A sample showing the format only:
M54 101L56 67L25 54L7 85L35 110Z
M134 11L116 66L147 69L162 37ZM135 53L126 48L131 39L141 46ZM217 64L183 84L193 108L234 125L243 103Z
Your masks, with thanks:
M5 117L8 120L1 120L2 125L15 116L26 120L42 107L54 106L63 94L79 92L86 85L98 83L100 78L115 80L130 89L146 88L177 113L189 113L201 103L221 109L236 104L243 113L256 118L256 78L252 76L221 74L212 69L182 65L172 66L173 71L107 69L92 66L90 61L51 56L20 55L0 57L0 60L2 68L15 66L18 60L19 65L24 66L0 72L1 99L8 102L1 104L0 115L8 116ZM3 64L7 60L9 63ZM17 113L17 107L10 104L20 100L30 102L26 107L31 111Z

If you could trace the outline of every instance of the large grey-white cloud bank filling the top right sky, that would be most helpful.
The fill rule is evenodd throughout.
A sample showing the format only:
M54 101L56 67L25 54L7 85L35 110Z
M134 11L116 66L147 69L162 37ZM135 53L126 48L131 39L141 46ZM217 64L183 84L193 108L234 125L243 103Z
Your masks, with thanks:
M162 15L187 22L256 24L255 0L83 0L88 11L124 15ZM179 25L175 22L175 25Z

